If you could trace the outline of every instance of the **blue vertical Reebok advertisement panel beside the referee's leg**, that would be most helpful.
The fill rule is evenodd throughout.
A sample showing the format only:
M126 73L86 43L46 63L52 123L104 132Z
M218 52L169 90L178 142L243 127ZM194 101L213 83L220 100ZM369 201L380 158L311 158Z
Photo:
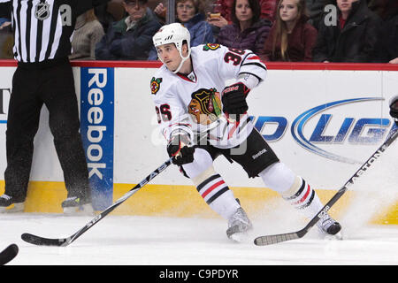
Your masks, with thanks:
M95 210L113 202L114 69L80 68L80 133Z

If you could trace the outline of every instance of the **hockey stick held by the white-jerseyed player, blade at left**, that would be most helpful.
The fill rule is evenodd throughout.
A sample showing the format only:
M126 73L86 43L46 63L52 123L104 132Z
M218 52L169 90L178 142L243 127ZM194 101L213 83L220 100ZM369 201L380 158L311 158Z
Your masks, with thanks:
M130 189L125 195L120 197L115 203L111 204L106 210L103 210L100 214L93 218L86 226L83 226L78 232L73 233L68 238L60 238L60 239L49 239L43 238L40 236L33 235L31 233L23 233L21 238L23 241L27 241L28 243L39 245L39 246L57 246L57 247L66 247L79 238L83 233L86 233L89 228L96 225L101 219L103 219L106 215L108 215L112 210L116 209L121 203L124 203L127 198L134 195L140 188L144 187L149 183L150 180L154 179L160 172L163 172L170 164L172 164L172 157L169 158L164 164L161 164L157 169L151 172L144 180L141 181L138 185Z

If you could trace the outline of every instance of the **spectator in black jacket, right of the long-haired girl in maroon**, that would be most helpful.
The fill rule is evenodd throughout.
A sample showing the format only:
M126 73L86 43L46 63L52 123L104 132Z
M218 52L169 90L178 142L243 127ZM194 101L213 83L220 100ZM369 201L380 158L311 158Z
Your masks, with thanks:
M313 50L315 62L373 62L379 40L379 17L366 0L337 0L336 22L322 20Z

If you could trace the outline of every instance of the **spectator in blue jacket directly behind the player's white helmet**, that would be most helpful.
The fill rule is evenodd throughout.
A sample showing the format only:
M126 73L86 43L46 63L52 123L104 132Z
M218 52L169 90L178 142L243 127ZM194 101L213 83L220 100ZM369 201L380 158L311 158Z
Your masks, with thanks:
M177 22L188 28L191 34L191 47L204 43L215 42L210 24L204 19L200 0L176 0ZM158 4L155 12L162 11L163 4ZM157 50L153 47L149 60L157 60Z

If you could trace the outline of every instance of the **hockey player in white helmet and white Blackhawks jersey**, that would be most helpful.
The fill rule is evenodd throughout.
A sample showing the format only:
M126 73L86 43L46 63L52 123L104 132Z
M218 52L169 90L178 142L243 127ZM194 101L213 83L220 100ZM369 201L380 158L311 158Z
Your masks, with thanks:
M252 224L212 165L220 155L241 164L249 178L262 178L267 187L313 218L323 207L317 193L279 161L247 113L246 97L265 79L265 65L250 50L218 44L190 48L189 39L188 29L178 23L161 27L153 36L164 65L150 88L173 163L210 208L228 220L226 234L232 240L239 240ZM226 87L226 80L233 79ZM341 225L326 214L318 228L336 234Z

